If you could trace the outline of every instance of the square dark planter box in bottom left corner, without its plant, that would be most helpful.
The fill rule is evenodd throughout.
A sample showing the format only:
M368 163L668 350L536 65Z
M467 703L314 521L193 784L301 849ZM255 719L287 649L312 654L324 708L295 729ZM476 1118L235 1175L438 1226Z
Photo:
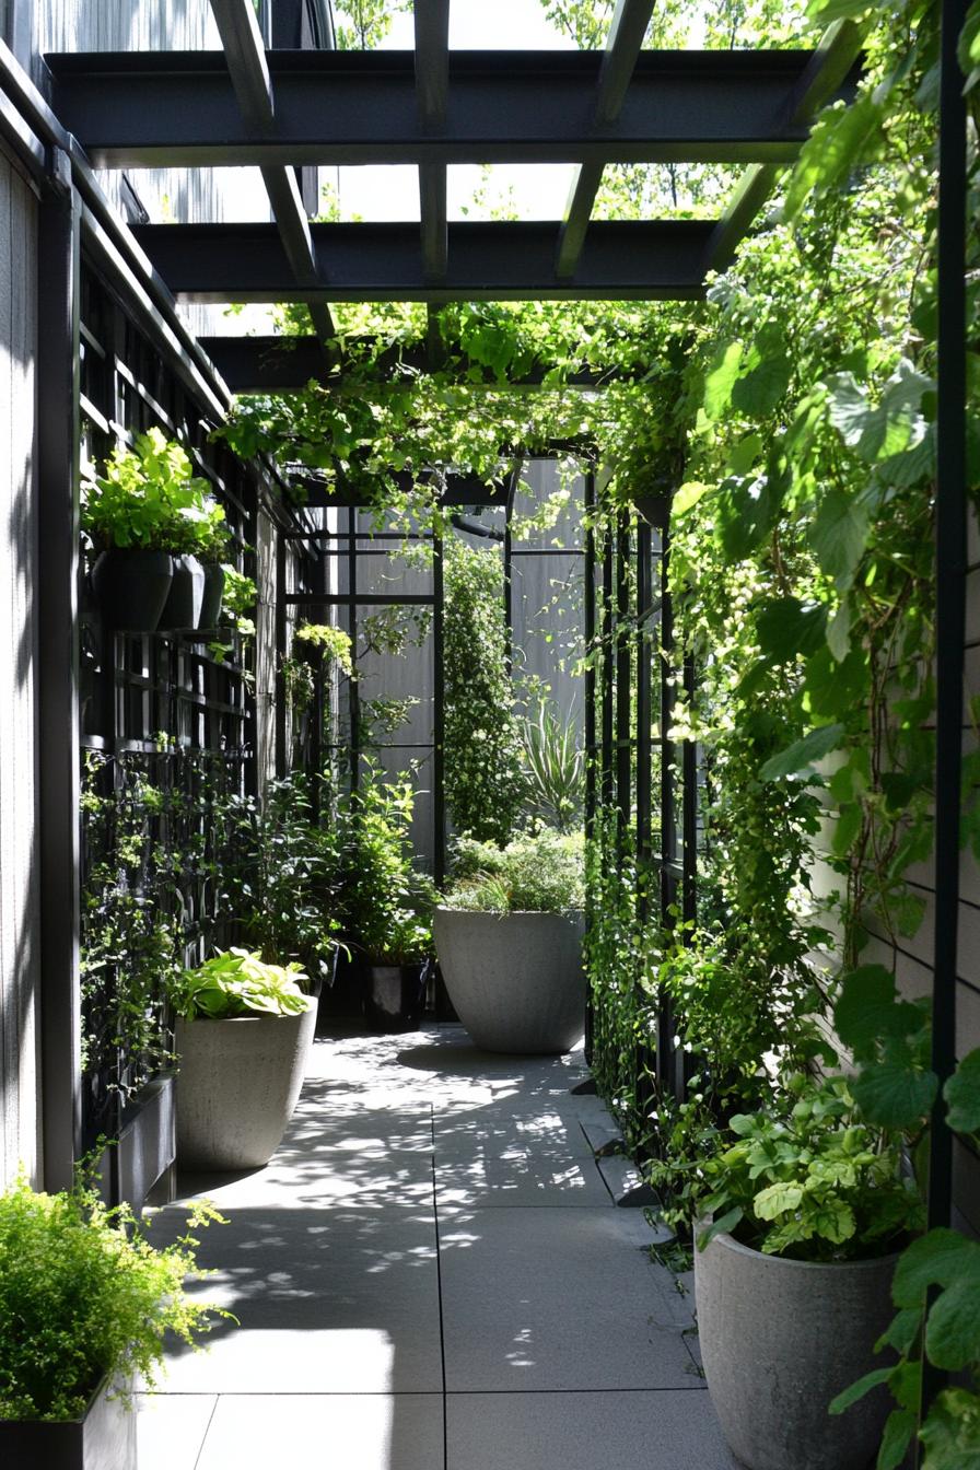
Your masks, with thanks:
M101 1385L82 1419L0 1419L0 1464L38 1470L137 1470L137 1416Z

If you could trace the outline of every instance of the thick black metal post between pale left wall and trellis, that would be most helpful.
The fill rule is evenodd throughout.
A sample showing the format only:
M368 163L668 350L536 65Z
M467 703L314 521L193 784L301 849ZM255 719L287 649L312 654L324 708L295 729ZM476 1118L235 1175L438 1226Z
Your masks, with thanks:
M44 1185L72 1183L81 1151L79 979L79 276L81 204L51 150L38 212L37 514L41 1105Z

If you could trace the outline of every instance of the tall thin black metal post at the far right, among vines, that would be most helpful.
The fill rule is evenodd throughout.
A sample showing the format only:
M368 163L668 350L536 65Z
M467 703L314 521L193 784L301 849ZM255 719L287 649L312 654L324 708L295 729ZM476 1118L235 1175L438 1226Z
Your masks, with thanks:
M952 1214L954 1139L942 1083L956 1064L956 931L967 585L965 232L967 109L956 43L965 0L943 0L939 96L939 409L936 462L936 926L933 945L933 1072L940 1094L929 1145L929 1225ZM923 1411L943 1386L924 1364Z

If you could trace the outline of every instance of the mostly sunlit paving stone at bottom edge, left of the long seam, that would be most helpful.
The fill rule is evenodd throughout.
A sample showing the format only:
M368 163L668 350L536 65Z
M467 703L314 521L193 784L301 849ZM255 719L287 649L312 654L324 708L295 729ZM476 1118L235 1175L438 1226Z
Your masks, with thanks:
M444 1463L438 1394L229 1394L217 1401L197 1470L442 1470Z

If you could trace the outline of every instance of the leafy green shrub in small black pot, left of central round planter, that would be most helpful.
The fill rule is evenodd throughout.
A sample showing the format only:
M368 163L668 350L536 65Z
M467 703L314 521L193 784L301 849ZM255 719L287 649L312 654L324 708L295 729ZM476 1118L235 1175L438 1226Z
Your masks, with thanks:
M413 1030L422 1019L432 956L435 888L413 864L411 782L383 782L367 764L339 813L342 928L363 964L364 1014L382 1030Z

